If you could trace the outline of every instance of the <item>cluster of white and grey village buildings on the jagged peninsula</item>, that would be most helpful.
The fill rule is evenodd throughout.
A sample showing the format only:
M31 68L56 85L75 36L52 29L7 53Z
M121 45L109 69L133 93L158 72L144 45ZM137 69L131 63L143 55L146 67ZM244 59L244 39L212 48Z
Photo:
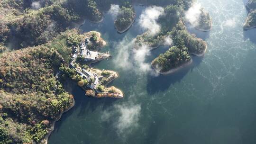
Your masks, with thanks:
M94 52L94 51L90 51L87 49L87 45L89 43L89 39L86 38L84 40L84 42L81 42L79 44L79 47L74 47L74 54L72 56L73 60L70 63L71 67L74 68L76 70L76 73L79 74L83 79L87 80L87 81L91 81L91 85L89 85L89 87L92 90L95 90L97 88L97 86L100 84L100 81L102 80L102 76L98 76L96 73L91 73L85 69L81 69L81 68L76 68L75 67L75 61L77 56L82 56L82 58L84 59L85 62L95 62L95 61L100 61L103 58L107 58L110 56L110 54L103 54L103 53L98 53L98 52Z

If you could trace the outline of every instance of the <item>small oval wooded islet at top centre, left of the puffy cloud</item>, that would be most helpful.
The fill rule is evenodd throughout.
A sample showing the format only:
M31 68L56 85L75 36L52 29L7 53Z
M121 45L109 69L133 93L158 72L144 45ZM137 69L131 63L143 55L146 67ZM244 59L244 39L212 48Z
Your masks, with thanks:
M133 24L135 20L135 11L131 5L122 6L119 10L117 19L115 20L115 27L119 33L124 33L127 31Z

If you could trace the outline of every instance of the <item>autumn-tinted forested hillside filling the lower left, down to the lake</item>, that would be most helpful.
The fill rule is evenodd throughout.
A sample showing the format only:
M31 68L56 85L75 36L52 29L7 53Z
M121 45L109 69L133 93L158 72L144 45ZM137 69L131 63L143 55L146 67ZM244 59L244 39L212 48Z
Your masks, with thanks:
M40 143L53 122L73 104L53 75L63 58L45 46L0 58L1 144Z

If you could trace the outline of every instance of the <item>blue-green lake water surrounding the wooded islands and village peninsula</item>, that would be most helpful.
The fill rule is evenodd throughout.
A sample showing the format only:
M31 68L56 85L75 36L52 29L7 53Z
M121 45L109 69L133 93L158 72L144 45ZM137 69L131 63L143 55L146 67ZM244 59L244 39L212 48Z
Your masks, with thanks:
M137 55L130 41L143 33L138 20L118 34L113 18L85 21L82 32L101 32L113 55L94 65L119 73L110 83L124 99L94 99L67 84L75 106L55 125L49 144L256 144L256 29L243 31L246 0L199 0L213 18L209 33L188 28L208 43L204 58L156 76L148 64L168 47ZM137 18L144 7L136 6Z

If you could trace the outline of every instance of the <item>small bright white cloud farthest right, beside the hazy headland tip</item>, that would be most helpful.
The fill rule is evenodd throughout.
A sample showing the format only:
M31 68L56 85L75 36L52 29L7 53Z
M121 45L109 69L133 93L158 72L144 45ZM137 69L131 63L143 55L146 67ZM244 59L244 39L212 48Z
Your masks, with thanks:
M190 7L185 12L185 18L188 22L191 23L193 27L197 27L199 25L199 18L201 15L202 6L200 3L194 3L192 7Z

